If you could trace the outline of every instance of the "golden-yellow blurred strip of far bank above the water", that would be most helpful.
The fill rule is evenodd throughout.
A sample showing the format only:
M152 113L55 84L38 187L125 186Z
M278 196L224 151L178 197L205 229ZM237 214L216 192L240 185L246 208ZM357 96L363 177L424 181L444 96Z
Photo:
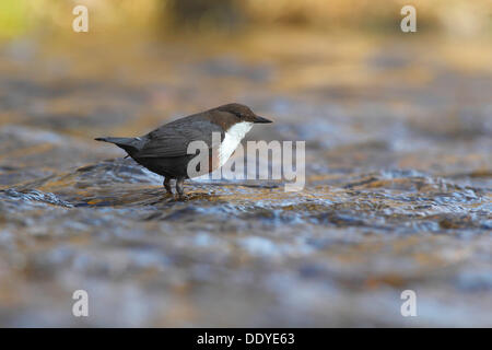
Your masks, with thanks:
M399 11L418 10L418 31L477 36L492 32L490 0L2 0L0 36L68 34L73 7L90 9L91 31L241 31L249 26L308 26L396 33Z

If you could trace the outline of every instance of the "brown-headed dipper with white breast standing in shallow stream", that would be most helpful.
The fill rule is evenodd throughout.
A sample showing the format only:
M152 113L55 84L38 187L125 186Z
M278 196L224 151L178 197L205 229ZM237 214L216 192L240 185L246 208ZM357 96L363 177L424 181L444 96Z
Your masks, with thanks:
M190 178L188 164L197 155L188 154L190 142L207 144L210 163L214 166L210 164L209 168L200 171L210 173L225 164L254 124L269 122L272 121L256 115L248 106L230 103L176 119L141 137L95 140L116 144L140 165L164 176L163 186L169 195L173 195L171 180L175 179L178 198L184 199L184 182ZM220 142L212 142L213 132L220 135Z

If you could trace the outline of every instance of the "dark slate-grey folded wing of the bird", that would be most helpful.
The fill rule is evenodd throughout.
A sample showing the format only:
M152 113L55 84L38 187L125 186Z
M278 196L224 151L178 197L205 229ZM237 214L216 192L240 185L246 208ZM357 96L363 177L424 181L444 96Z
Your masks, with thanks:
M209 148L219 147L212 144L212 132L219 132L222 141L224 132L216 125L200 116L185 117L166 124L144 138L148 140L139 152L132 154L136 158L172 158L187 155L188 144L192 141L204 141Z

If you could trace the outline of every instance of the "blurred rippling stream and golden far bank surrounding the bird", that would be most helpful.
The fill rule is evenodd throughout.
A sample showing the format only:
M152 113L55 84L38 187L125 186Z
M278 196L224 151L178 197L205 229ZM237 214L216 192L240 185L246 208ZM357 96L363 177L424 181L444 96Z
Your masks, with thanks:
M230 102L303 191L176 202L93 141ZM0 325L490 327L491 135L490 0L2 0Z

